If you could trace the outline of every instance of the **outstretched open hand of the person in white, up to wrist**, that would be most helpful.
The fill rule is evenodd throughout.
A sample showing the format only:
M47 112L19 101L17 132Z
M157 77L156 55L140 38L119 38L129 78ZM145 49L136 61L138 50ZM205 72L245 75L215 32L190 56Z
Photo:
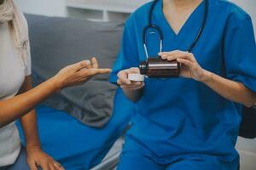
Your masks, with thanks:
M71 86L81 85L87 82L90 77L97 74L107 74L111 69L99 69L96 58L84 60L79 63L68 65L61 69L55 77L58 88L67 88Z

